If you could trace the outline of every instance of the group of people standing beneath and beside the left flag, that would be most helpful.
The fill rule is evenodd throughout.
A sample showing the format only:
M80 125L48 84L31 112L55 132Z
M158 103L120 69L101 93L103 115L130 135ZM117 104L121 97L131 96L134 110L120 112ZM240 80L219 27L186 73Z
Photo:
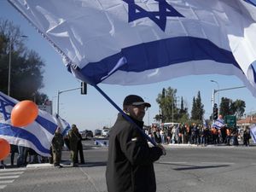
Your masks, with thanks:
M51 142L50 157L41 156L32 148L11 144L10 166L24 167L27 164L50 163L53 164L55 167L61 168L61 151L64 143L71 152L71 166L79 165L79 157L80 164L84 164L82 136L79 133L79 129L77 128L77 126L72 125L71 130L68 131L67 136L64 137L61 135L61 128L57 127L55 131L55 136L53 137ZM16 165L15 154L18 154ZM1 160L0 168L4 167L6 167L6 165L4 164L4 161Z

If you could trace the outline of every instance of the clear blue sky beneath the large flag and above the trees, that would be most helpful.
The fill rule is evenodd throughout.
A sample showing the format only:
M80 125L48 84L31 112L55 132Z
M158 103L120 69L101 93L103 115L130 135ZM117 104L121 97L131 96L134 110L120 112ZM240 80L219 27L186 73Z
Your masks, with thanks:
M6 0L0 0L0 18L13 21L24 35L26 39L26 47L34 49L44 60L46 66L44 68L44 89L41 91L49 96L49 99L54 102L54 112L57 90L68 90L79 87L78 79L75 79L71 73L67 72L66 67L61 61L55 49L21 16ZM99 84L103 91L107 93L114 102L121 108L123 99L129 94L137 94L152 104L149 109L149 123L154 122L155 114L159 113L159 106L155 99L161 90L171 86L177 89L177 96L183 96L184 102L188 104L189 112L192 107L193 96L201 91L202 103L205 106L205 117L208 119L212 112L212 89L218 89L216 83L210 82L215 80L219 84L219 89L242 86L240 79L236 76L223 75L199 75L187 76L177 79L170 79L166 82L157 84L143 84L136 86L120 86ZM226 90L219 92L220 98L228 97L232 100L241 99L246 102L246 113L256 111L255 97L247 90L247 88L238 90ZM216 94L216 102L218 103L218 94ZM88 86L88 94L80 95L80 90L73 90L61 94L60 97L60 115L70 124L78 125L80 130L90 129L95 130L102 128L103 125L113 125L117 110L95 90L94 87ZM144 118L145 124L148 125L148 112Z

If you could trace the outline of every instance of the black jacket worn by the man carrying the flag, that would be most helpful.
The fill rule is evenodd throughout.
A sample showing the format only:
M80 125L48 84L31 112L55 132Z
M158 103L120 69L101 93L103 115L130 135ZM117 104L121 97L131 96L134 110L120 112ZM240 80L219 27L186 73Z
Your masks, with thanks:
M143 127L143 122L134 120ZM106 179L108 192L155 192L153 162L162 150L147 140L119 113L110 131Z

